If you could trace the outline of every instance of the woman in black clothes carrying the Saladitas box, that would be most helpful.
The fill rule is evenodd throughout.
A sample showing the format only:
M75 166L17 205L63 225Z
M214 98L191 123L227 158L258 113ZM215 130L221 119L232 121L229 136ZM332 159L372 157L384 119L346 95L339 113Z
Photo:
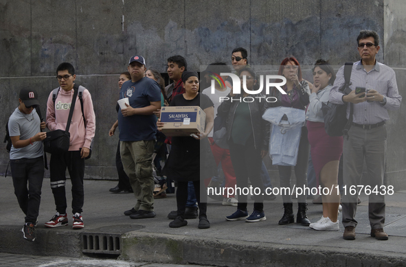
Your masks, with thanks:
M168 178L178 182L177 189L177 218L170 222L169 227L177 228L188 224L185 221L184 213L186 201L188 200L188 181L193 181L196 199L199 204L199 229L207 229L210 222L207 220L207 194L201 194L204 189L203 178L211 177L211 169L204 165L207 161L205 155L212 152L207 141L207 135L213 128L214 104L207 95L199 93L199 78L194 71L184 71L182 73L183 87L185 93L176 95L170 102L170 106L200 106L206 113L205 131L195 133L196 137L172 137L172 148L163 167L163 173ZM161 121L157 122L158 130L163 128ZM214 161L214 159L213 159Z

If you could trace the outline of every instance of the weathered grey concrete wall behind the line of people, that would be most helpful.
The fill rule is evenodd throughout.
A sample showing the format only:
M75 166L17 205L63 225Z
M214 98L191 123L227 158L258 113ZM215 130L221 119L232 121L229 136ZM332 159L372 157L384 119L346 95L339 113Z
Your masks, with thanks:
M16 108L21 86L38 90L45 114L45 100L58 86L54 71L60 62L71 62L77 81L91 92L98 121L86 175L116 178L117 136L108 132L116 119L117 73L126 70L130 56L145 56L147 67L165 72L166 58L180 54L189 69L199 70L210 62L229 63L232 49L241 46L254 65L279 65L290 54L303 65L318 58L341 65L358 59L359 30L384 36L385 10L384 0L3 0L1 126ZM378 60L384 61L385 54ZM1 150L0 173L7 162L8 154Z

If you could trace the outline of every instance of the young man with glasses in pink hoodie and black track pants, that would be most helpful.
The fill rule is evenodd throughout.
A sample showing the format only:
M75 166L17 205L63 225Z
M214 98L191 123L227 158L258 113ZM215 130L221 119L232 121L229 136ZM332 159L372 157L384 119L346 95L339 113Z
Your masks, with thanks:
M74 81L76 80L74 66L63 62L56 69L56 75L60 86L55 102L52 99L53 91L48 97L47 128L49 130L65 130L71 102L74 97ZM52 194L54 194L56 214L49 222L45 223L45 227L48 228L61 227L68 224L65 195L66 169L69 171L72 183L72 213L74 214L72 228L82 229L84 227L83 218L80 215L84 202L84 159L89 156L90 146L95 135L95 113L91 95L87 89L83 89L83 106L79 97L76 97L74 113L69 128L71 135L69 150L65 153L52 154L51 161L49 161L51 189Z

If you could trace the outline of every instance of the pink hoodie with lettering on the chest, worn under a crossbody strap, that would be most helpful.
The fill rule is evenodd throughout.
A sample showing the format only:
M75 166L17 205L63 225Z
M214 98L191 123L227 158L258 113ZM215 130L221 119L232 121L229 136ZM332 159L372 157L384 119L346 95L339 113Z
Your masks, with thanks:
M52 101L52 92L47 101L47 128L49 130L65 130L67 119L69 117L70 106L74 90L65 91L59 88L58 95L54 102ZM55 117L56 113L56 117ZM80 148L90 148L91 141L95 135L95 114L93 111L93 102L87 89L83 91L83 113L86 118L86 128L82 117L82 108L79 97L76 97L74 115L72 116L69 133L71 134L71 143L69 151L76 151Z

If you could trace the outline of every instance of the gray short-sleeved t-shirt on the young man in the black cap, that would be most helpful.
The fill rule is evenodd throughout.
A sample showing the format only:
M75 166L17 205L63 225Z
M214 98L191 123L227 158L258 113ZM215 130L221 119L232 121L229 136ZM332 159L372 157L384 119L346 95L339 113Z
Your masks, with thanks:
M12 113L8 120L8 132L10 137L20 136L20 140L30 139L34 137L41 129L41 121L39 119L36 110L30 114L23 114L19 108ZM11 147L10 159L35 159L39 156L43 156L43 143L33 142L32 145L28 145L25 148Z

